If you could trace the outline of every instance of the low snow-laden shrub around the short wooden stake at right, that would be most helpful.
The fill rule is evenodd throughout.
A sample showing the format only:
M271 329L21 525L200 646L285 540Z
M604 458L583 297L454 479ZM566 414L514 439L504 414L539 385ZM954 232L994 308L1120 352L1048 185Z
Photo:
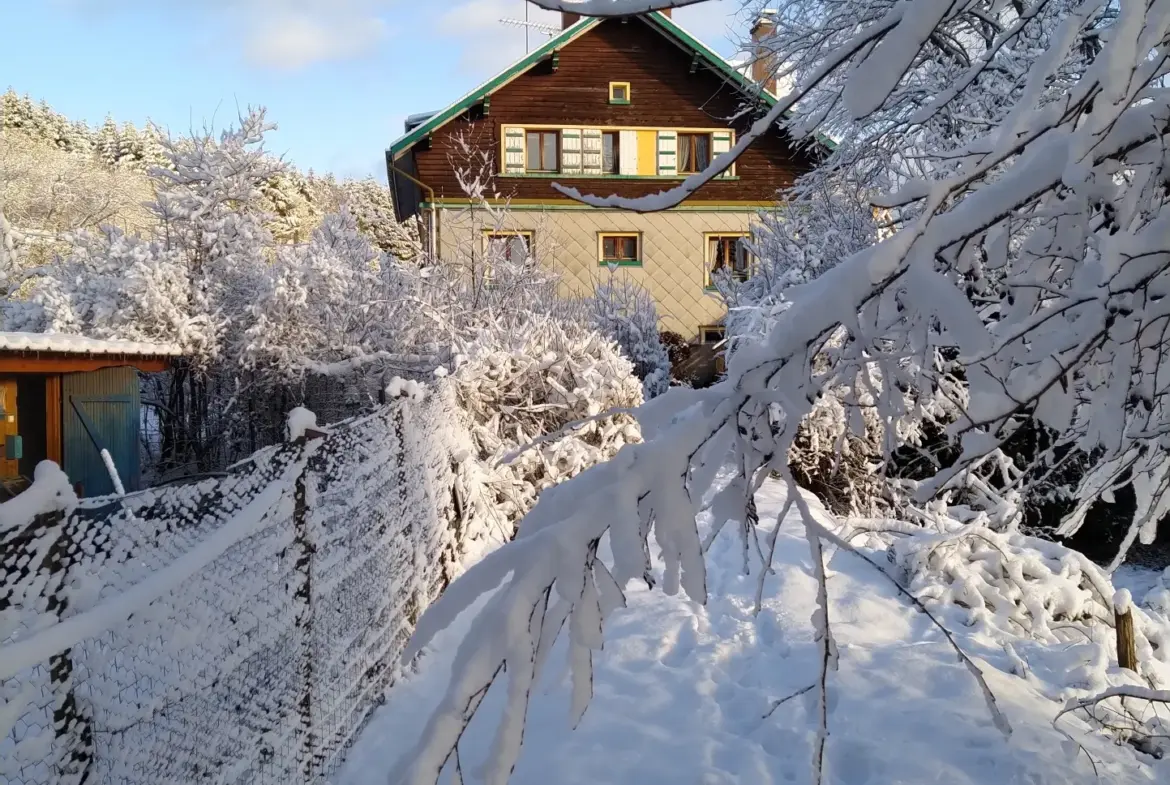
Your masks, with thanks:
M975 640L990 641L992 652L1000 647L1007 669L1049 700L1066 702L1119 742L1170 751L1157 741L1164 718L1133 700L1150 687L1170 687L1170 617L1159 610L1164 588L1155 585L1141 607L1078 551L983 512L956 519L941 502L921 512L914 523L847 522L842 536L886 551L902 585L945 627L969 628ZM1115 613L1127 608L1141 679L1115 667ZM1129 698L1112 694L1135 688Z

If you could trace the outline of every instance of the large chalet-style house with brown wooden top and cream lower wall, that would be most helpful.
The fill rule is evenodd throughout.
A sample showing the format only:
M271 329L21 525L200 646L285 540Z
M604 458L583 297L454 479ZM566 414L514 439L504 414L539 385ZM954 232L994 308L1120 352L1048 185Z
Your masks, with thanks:
M443 259L498 242L528 247L578 291L608 275L629 276L654 297L663 329L718 342L725 309L713 270L746 273L741 240L753 216L814 165L818 151L776 129L684 204L659 213L563 197L553 181L599 195L669 188L729 150L776 102L757 81L766 62L728 62L669 11L611 19L566 13L563 21L558 35L495 78L441 111L408 118L386 151L398 218L419 216L431 250ZM764 16L752 35L758 41L770 29ZM456 174L461 160L476 156L491 161L507 226L468 219L472 201Z

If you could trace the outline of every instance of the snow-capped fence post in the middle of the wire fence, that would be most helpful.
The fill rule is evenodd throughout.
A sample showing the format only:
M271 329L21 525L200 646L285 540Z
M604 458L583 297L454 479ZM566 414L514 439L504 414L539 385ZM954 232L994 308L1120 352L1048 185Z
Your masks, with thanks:
M297 475L292 489L292 546L296 553L294 574L300 578L292 592L292 601L297 605L296 629L301 645L300 684L301 698L297 701L297 723L300 725L300 744L297 758L301 764L301 781L312 783L317 767L317 738L312 722L312 555L316 546L309 532L309 442L321 439L321 431L307 428L303 436L294 443L302 449L304 466Z

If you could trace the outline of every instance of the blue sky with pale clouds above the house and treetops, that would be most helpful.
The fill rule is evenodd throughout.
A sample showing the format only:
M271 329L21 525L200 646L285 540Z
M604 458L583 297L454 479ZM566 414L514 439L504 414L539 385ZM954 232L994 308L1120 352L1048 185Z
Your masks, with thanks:
M524 54L525 0L19 0L6 2L0 91L71 119L184 132L264 105L269 147L302 168L384 177L402 120L440 109ZM741 0L674 12L723 54ZM530 19L559 15L530 9ZM529 34L532 46L546 40Z

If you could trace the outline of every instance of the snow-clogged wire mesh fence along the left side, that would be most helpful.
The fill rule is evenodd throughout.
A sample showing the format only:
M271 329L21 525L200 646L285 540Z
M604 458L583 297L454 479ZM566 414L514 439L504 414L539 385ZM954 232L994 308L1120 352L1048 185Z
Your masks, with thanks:
M400 674L474 493L446 391L226 476L0 510L0 783L314 783ZM63 508L63 509L62 509Z

